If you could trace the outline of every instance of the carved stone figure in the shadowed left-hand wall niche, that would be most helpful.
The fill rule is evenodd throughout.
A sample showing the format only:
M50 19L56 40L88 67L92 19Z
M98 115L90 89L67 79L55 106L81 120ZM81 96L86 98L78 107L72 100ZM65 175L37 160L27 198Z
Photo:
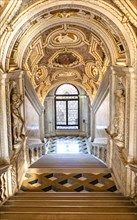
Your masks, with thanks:
M17 92L16 84L11 91L11 115L12 115L12 132L13 132L13 143L19 143L22 138L23 130L23 118L20 114L20 106L23 102L23 97Z

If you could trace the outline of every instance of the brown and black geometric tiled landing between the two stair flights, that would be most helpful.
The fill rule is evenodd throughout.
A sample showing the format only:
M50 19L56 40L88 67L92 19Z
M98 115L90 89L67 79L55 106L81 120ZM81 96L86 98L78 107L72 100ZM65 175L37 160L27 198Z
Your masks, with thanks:
M116 192L111 173L26 173L22 191Z

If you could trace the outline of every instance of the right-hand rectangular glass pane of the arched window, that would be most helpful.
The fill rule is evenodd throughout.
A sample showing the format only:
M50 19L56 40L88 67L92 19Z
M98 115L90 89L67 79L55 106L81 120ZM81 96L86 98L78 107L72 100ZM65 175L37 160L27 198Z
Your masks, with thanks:
M78 101L68 101L68 125L78 125Z

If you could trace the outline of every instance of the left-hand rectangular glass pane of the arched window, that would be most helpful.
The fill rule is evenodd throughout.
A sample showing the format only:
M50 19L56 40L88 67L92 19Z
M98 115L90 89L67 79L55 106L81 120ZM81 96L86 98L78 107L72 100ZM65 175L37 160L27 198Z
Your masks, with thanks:
M66 101L56 101L56 124L66 125Z

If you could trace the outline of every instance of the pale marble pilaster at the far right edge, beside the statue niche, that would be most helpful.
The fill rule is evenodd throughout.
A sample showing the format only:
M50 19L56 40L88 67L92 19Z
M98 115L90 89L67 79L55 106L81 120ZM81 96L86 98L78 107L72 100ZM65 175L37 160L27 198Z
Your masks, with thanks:
M127 97L126 136L129 140L125 145L127 161L137 161L137 72L132 67L125 67Z

